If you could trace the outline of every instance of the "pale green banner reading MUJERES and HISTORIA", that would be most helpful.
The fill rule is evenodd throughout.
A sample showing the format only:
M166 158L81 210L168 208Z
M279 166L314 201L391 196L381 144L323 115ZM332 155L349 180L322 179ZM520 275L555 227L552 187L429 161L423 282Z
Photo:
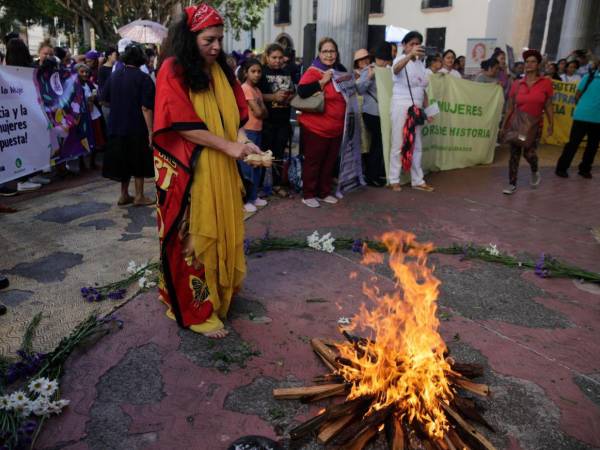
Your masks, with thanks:
M391 71L376 71L384 157L389 165L392 97ZM444 74L431 76L429 102L437 102L440 114L423 126L425 171L451 170L489 164L500 125L504 96L497 84L461 80Z

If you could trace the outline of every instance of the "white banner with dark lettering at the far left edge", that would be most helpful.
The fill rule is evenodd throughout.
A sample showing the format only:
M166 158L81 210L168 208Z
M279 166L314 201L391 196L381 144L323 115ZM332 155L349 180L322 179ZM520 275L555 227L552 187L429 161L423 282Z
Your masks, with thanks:
M0 66L0 183L50 164L50 133L34 69Z

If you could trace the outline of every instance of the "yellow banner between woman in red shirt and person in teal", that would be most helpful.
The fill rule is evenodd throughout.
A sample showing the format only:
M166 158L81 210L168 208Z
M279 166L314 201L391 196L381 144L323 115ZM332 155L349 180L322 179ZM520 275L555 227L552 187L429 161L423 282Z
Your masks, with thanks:
M544 114L544 133L542 134L543 144L565 145L569 142L571 125L573 125L573 112L575 111L575 93L577 92L577 83L564 83L562 81L552 81L554 97L552 97L552 107L554 108L554 130L552 136L548 136L548 119Z

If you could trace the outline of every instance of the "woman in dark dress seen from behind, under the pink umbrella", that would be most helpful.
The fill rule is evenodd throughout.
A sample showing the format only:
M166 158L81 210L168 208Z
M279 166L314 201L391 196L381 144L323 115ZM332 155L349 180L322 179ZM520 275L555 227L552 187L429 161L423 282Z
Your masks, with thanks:
M144 195L144 178L154 176L152 162L152 121L154 83L139 68L146 62L137 45L125 49L125 67L114 72L104 85L102 100L110 105L109 142L102 175L121 182L118 205L151 205ZM129 181L135 179L135 197L129 195Z

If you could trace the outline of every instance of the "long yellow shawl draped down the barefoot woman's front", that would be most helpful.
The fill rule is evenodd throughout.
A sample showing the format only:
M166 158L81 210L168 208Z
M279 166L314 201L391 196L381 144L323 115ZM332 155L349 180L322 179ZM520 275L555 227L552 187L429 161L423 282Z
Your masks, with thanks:
M235 142L240 113L233 89L218 63L212 64L210 76L209 89L190 91L192 105L212 134ZM190 235L194 261L204 265L209 299L221 318L246 274L242 192L236 161L205 147L194 169Z

